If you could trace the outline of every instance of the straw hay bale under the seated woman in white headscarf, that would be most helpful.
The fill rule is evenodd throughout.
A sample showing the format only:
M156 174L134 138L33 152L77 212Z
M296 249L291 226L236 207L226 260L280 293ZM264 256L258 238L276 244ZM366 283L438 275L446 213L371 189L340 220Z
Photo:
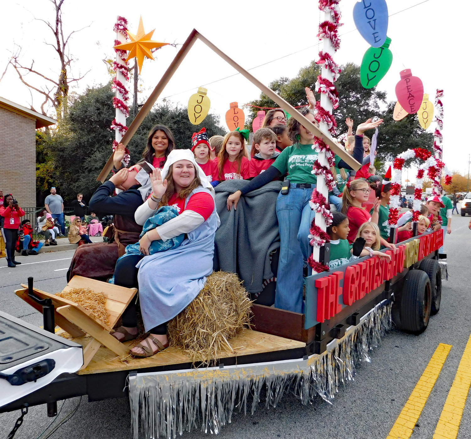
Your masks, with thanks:
M168 325L169 342L194 361L234 352L230 339L250 324L251 301L236 274L216 271L195 300Z

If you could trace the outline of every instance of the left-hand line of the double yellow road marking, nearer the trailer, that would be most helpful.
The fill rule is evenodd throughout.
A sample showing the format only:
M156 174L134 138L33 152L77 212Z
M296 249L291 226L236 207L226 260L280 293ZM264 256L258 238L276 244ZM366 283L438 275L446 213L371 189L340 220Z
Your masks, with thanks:
M439 377L450 349L450 344L440 343L438 345L386 439L406 439L411 437L415 424L419 420L422 409Z

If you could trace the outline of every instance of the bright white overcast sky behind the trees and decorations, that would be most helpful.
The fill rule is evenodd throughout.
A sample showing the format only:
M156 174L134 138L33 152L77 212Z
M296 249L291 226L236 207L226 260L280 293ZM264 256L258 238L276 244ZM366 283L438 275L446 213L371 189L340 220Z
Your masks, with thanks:
M363 54L369 47L355 30L352 18L355 3L355 0L340 2L341 22L344 23L340 34L344 35L341 37L340 49L334 56L338 64L361 64ZM447 4L450 7L446 7ZM469 2L461 1L459 14L456 14L451 5L442 0L388 1L388 36L392 40L390 49L393 63L377 88L387 92L388 101L396 100L394 87L399 80L399 71L404 68L410 68L415 76L422 79L424 91L429 93L432 102L435 90L443 88L443 157L450 170L464 174L468 172L468 154L471 152L466 135L470 128L463 120L466 112L462 108L468 94L465 84L470 61L466 57L466 41L471 7ZM4 32L0 47L0 74L11 52L15 51L16 43L23 48L21 59L24 64L34 59L38 71L45 74L50 72L51 77L56 79L59 65L57 56L54 49L45 44L45 41L51 42L52 33L44 23L34 19L42 18L52 22L53 5L47 0L22 0L8 2L2 8L5 15L2 20ZM399 12L406 8L409 9ZM292 78L301 67L317 59L319 52L316 37L319 11L316 0L239 0L234 3L220 0L65 0L65 33L90 25L70 39L70 52L76 60L72 75L77 76L79 72L90 70L79 82L78 88L74 88L76 91L81 92L87 86L104 84L109 80L102 60L114 57L113 25L117 15L128 19L130 32L133 33L137 32L139 16L142 15L145 31L155 28L153 40L157 41L183 43L195 27L247 69L283 57L250 70L267 85L281 76ZM140 103L154 88L177 51L178 48L167 46L157 51L156 61L144 61L140 78ZM208 88L211 99L210 112L219 114L221 125L225 126L224 115L230 102L236 101L241 107L260 95L260 91L241 75L220 80L234 73L232 67L197 41L161 96L170 96L172 102L186 105L198 86L204 86ZM36 78L33 80L32 76L31 80L36 86L41 85L41 81ZM219 81L209 84L216 80ZM128 88L131 88L130 83ZM41 96L33 91L31 99L30 92L11 67L0 82L0 96L27 107L33 104L40 111ZM359 122L355 121L355 125ZM433 123L428 130L432 129ZM415 173L409 173L409 179L414 181L411 174Z

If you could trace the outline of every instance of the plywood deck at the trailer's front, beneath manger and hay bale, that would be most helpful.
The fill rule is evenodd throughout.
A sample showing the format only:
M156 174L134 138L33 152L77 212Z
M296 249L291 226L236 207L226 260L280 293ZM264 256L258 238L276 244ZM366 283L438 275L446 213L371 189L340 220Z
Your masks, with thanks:
M86 345L90 338L87 336L75 337L72 339L76 343ZM284 351L306 346L306 343L289 340L276 335L264 334L262 332L244 329L241 334L229 340L234 352L224 352L219 355L219 359L228 357L241 357L244 355L258 354L263 352ZM135 340L125 342L127 346L136 344ZM79 370L79 375L98 374L102 372L116 372L122 370L136 370L147 367L168 366L171 364L191 363L192 359L185 355L179 348L169 347L162 352L149 358L126 357L121 359L112 351L101 345L97 353L91 359L88 366Z

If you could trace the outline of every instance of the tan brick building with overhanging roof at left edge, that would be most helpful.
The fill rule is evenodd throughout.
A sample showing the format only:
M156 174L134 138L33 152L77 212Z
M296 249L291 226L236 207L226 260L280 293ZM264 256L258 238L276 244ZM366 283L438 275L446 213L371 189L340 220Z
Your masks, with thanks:
M36 129L56 123L0 97L0 189L22 207L36 206Z

